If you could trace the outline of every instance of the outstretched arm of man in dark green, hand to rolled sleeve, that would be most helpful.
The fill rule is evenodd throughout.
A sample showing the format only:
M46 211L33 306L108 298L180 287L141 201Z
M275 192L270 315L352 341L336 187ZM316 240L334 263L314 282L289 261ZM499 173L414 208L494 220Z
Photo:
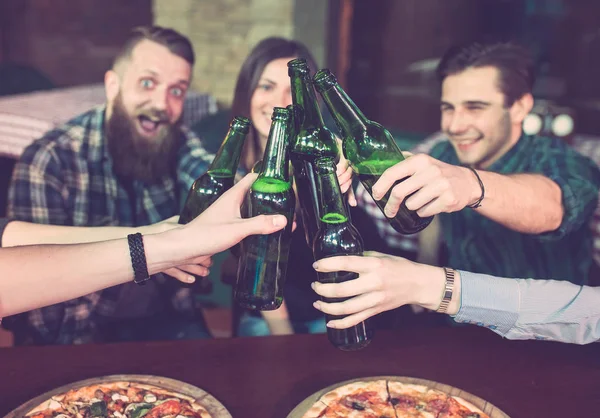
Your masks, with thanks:
M568 155L562 155L566 153ZM573 150L559 149L544 155L536 173L497 174L477 170L485 189L475 210L506 227L523 233L559 231L563 235L587 222L598 198L600 174L587 158ZM482 196L475 173L466 167L444 163L425 154L415 155L386 170L373 186L381 198L394 182L386 214L394 216L406 199L420 216L456 212Z

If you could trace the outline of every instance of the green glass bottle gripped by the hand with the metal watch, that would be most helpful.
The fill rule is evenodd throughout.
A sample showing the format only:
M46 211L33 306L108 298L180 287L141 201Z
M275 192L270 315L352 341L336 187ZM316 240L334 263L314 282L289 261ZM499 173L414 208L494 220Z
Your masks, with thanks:
M315 260L340 255L362 255L362 238L348 217L333 160L322 158L315 164L321 191L321 225L313 243ZM318 273L318 277L321 283L341 283L358 278L358 274L336 271ZM348 298L322 298L324 302L330 303L346 299ZM325 318L331 321L343 316L326 315ZM327 328L329 341L345 351L366 347L371 342L373 333L369 320L346 329Z

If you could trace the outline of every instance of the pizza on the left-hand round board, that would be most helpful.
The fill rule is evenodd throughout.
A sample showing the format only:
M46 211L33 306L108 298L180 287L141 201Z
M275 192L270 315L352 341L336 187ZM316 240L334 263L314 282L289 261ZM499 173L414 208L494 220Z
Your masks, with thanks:
M212 418L194 398L135 382L99 383L52 396L27 418Z

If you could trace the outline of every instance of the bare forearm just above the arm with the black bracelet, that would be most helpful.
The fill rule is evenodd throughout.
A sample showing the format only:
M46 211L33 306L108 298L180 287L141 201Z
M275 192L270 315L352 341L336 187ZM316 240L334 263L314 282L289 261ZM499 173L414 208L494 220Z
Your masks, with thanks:
M164 232L174 225L159 223L143 227L78 227L61 225L10 222L2 235L3 247L36 244L78 244L125 238L129 234L141 232L144 235Z

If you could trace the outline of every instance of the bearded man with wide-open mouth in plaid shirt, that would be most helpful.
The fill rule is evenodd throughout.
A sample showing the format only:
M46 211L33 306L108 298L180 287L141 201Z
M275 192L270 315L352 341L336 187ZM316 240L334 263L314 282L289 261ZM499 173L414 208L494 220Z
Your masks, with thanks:
M13 173L9 216L135 227L177 215L181 197L211 157L181 126L193 64L192 45L179 33L133 30L106 73L106 105L24 151ZM19 344L208 336L190 289L164 277L26 312L4 325Z

